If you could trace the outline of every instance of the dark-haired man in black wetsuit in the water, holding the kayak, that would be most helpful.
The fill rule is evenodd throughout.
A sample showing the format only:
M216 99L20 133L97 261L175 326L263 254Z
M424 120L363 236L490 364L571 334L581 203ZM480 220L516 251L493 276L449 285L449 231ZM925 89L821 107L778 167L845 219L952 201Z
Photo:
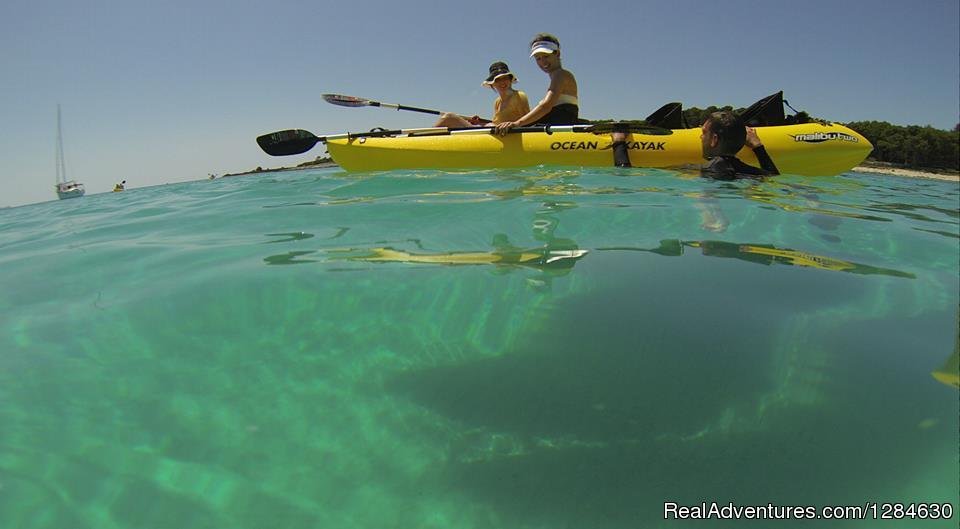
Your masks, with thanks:
M627 153L626 130L614 128L611 134L613 143L613 163L617 167L631 167ZM700 167L701 176L715 180L734 180L736 178L757 178L780 174L776 164L767 154L763 142L753 127L747 127L739 116L730 111L710 114L700 129L700 144L706 165ZM760 167L748 165L737 153L746 145L753 150Z

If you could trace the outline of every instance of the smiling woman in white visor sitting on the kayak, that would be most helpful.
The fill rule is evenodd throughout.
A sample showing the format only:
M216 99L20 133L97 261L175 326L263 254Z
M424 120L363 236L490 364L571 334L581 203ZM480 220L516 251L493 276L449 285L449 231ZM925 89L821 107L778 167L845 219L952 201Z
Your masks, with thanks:
M526 125L573 125L579 122L580 103L577 79L560 65L560 41L549 33L538 33L530 42L530 56L550 76L550 86L543 99L519 119L499 123L497 134Z

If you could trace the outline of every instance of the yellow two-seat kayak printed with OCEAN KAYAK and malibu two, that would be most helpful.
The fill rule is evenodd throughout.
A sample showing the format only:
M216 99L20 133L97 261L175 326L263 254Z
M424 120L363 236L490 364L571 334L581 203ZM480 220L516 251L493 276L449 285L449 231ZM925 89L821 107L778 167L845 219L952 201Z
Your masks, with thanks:
M506 136L489 129L410 132L395 136L326 138L330 156L348 171L390 169L506 168L537 165L613 167L609 133L585 126L557 126L549 132ZM838 124L804 123L757 127L757 135L780 172L808 176L837 175L856 167L873 150L859 133ZM634 167L678 167L703 163L700 129L663 129L630 133L627 145ZM739 157L759 165L744 148Z

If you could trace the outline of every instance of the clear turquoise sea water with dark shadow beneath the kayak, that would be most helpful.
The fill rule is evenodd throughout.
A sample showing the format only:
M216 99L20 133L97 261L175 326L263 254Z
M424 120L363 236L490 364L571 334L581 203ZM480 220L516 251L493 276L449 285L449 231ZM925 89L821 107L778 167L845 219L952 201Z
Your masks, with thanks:
M330 168L2 210L0 527L956 527L958 207Z

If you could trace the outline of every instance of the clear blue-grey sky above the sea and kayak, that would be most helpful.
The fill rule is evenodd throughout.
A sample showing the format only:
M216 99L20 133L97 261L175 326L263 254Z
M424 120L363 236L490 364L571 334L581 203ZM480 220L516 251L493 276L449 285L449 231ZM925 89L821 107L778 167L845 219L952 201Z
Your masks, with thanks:
M949 129L958 20L957 0L6 0L0 207L55 199L58 102L68 176L88 194L135 189L324 153L269 157L254 138L274 130L431 124L325 92L486 115L480 82L502 59L536 100L547 82L527 43L540 31L560 38L587 118L747 106L782 89L827 119Z

